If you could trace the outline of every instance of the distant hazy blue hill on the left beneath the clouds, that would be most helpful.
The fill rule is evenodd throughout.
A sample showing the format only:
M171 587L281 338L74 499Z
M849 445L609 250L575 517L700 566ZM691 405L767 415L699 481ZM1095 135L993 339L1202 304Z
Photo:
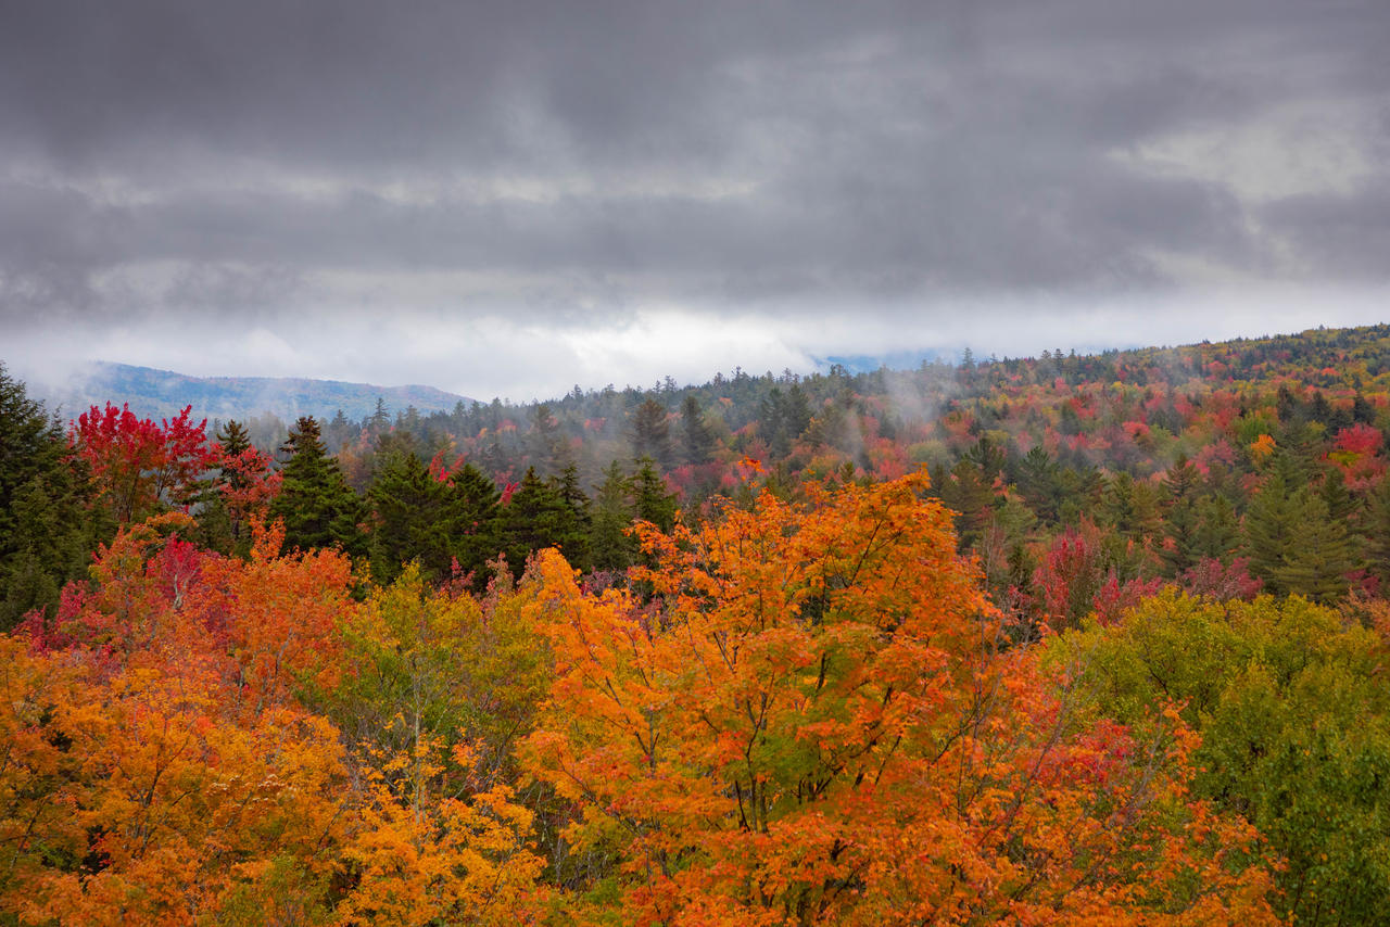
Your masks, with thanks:
M375 386L336 379L300 379L272 377L189 377L167 370L129 364L93 364L79 381L65 386L33 384L33 393L50 409L61 404L63 416L72 417L89 406L107 400L128 403L140 416L178 414L192 404L199 417L250 418L271 413L284 421L299 416L331 418L341 409L349 418L360 420L377 409L377 399L391 413L414 406L421 414L453 411L457 403L470 404L467 396L434 386Z

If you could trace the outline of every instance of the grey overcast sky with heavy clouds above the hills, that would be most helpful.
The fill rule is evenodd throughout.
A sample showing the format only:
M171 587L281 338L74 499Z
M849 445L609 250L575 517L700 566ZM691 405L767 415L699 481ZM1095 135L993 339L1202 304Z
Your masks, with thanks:
M1390 320L1384 0L0 0L0 360L548 397Z

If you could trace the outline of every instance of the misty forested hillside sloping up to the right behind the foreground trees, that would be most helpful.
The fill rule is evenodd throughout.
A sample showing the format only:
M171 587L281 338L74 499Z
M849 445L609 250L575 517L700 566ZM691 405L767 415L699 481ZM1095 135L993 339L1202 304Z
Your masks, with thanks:
M594 498L649 460L695 513L723 495L927 467L1008 607L1072 620L1155 582L1334 603L1390 581L1390 327L701 386L575 388L530 406L406 410L322 429L366 493L400 441L498 485L569 473ZM1294 530L1297 527L1297 531ZM1316 538L1316 543L1305 543ZM587 566L587 561L585 561Z

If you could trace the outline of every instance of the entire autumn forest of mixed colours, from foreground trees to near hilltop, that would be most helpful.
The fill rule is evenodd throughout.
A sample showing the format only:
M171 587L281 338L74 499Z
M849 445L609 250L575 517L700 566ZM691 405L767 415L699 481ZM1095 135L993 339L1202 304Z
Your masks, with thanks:
M0 370L0 923L1382 923L1390 327L350 421Z

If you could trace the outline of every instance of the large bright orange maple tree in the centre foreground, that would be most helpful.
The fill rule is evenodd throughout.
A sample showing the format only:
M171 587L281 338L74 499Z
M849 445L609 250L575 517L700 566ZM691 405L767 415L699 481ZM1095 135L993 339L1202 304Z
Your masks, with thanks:
M624 923L1264 923L1193 735L1083 717L1008 649L923 477L762 495L645 546L655 596L535 564L556 681L525 755ZM603 885L607 885L603 889ZM602 898L589 906L587 899Z

